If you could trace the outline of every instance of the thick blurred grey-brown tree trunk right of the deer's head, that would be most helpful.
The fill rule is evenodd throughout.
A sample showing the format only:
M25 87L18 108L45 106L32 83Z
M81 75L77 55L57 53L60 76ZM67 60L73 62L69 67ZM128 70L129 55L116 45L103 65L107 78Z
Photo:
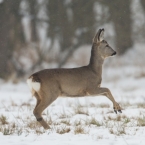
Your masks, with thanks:
M117 52L123 54L133 45L130 1L109 0L103 3L109 7L110 18L114 22Z

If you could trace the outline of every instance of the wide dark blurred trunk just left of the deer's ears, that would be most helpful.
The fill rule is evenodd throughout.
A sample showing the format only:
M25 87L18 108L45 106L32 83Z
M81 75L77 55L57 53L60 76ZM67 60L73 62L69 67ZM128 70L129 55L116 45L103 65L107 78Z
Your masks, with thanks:
M80 31L79 43L91 44L94 35L94 0L72 1L74 31Z

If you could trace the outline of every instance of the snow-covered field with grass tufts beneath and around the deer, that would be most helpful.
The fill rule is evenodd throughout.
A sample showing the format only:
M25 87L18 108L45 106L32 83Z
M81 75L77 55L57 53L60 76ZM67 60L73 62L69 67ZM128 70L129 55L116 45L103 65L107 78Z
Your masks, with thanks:
M136 45L123 58L105 62L102 86L111 90L122 114L113 112L106 97L58 98L43 113L50 130L36 122L36 100L26 83L1 81L0 144L145 145L144 54Z

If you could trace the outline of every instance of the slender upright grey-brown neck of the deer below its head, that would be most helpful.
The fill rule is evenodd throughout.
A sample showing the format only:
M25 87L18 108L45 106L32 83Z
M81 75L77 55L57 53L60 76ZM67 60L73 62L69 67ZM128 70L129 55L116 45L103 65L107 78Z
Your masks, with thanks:
M98 50L92 47L89 67L97 74L102 75L102 65L104 59L98 53Z

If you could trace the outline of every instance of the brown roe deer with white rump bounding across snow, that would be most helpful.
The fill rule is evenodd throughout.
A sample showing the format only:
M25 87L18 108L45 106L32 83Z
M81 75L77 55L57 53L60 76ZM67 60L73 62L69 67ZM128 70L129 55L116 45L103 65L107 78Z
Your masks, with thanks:
M42 118L41 113L59 96L104 95L112 101L115 113L117 111L121 113L121 107L113 98L110 90L100 87L104 59L116 54L103 36L104 29L99 29L93 39L91 58L87 66L71 69L44 69L27 79L31 93L37 99L33 113L45 129L50 127Z

